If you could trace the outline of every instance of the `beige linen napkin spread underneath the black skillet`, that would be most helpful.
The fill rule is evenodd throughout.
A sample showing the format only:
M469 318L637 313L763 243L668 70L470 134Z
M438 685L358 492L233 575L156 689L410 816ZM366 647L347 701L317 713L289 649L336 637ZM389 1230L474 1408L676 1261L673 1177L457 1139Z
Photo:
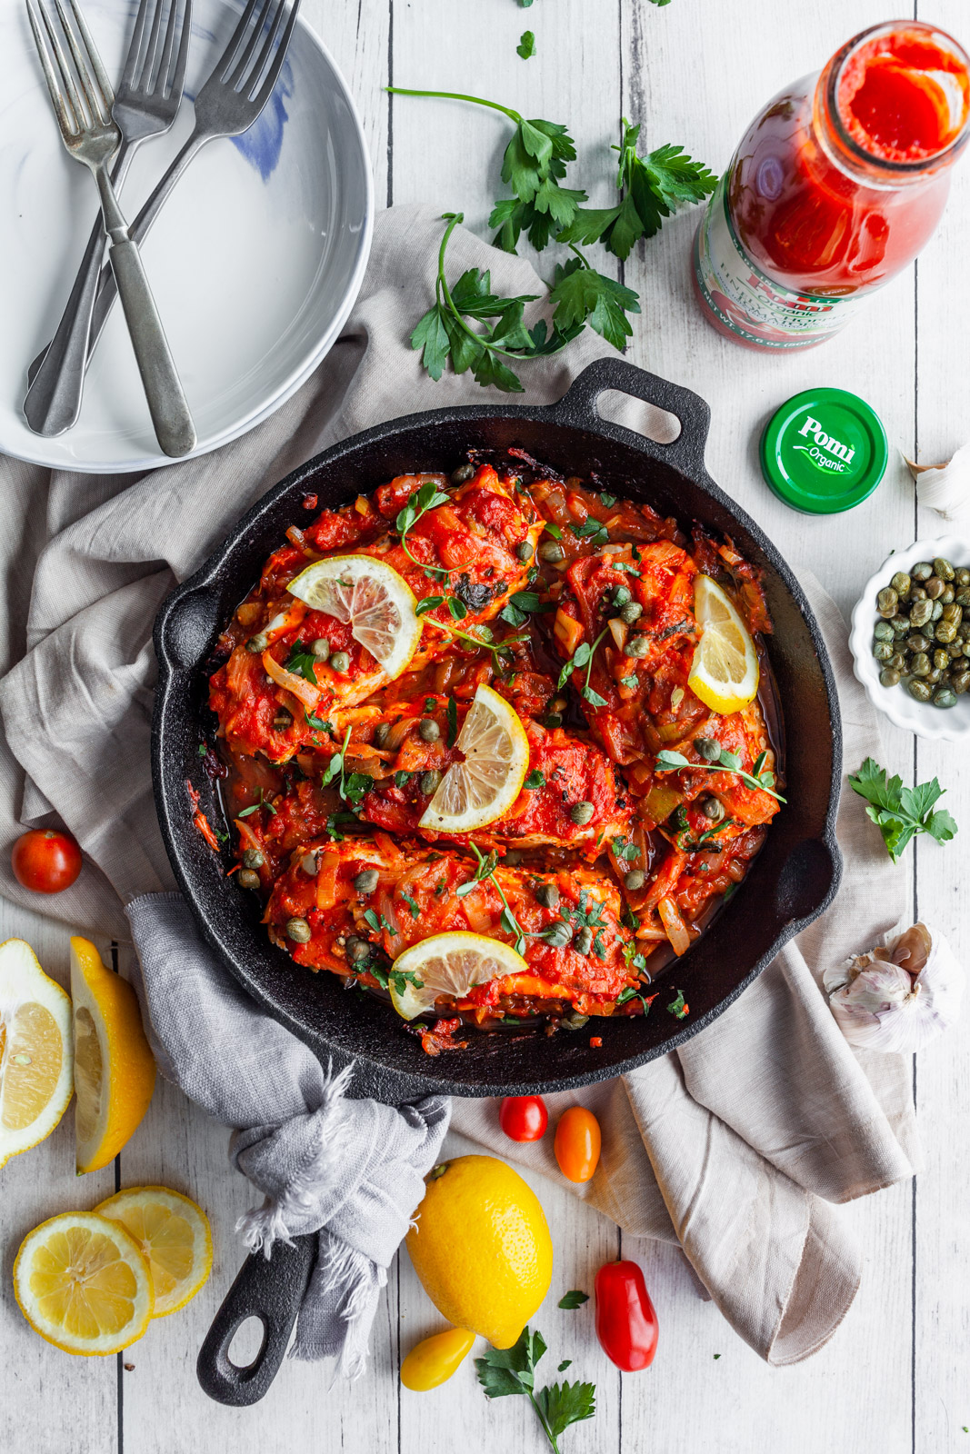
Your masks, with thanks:
M412 410L481 401L470 375L432 384L409 348L433 295L441 222L426 208L377 221L364 289L313 378L218 454L141 478L49 473L0 459L0 826L3 842L63 820L87 855L44 909L76 929L128 938L122 904L173 887L151 800L151 624L239 516L318 449ZM458 230L455 272L490 268L496 291L541 292L531 266ZM558 398L611 352L586 334L525 371L528 403ZM624 422L649 410L631 404ZM878 734L845 628L817 585L833 654L846 763ZM816 987L826 964L899 919L903 878L861 804L839 814L846 872L835 907L682 1051L583 1093L604 1125L588 1200L637 1236L679 1240L739 1333L766 1359L819 1348L845 1314L859 1256L832 1207L913 1172L902 1057L854 1054ZM38 907L0 853L0 893ZM574 1096L554 1096L551 1111ZM550 1149L496 1137L493 1102L455 1102L455 1125L503 1156L556 1173Z

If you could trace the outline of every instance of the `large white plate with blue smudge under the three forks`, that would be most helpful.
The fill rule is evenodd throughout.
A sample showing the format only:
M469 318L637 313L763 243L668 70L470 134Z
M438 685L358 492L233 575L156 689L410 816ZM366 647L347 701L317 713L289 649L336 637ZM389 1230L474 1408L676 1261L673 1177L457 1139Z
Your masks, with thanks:
M112 77L137 0L83 0ZM192 129L191 100L221 55L241 0L193 0L185 99L145 141L121 193L131 220ZM26 366L49 340L97 211L87 167L60 138L26 7L0 4L0 451L61 470L119 473L160 452L115 305L74 429L32 433ZM371 246L371 167L353 102L298 22L259 121L208 142L144 244L159 311L207 454L266 419L310 377L353 305Z

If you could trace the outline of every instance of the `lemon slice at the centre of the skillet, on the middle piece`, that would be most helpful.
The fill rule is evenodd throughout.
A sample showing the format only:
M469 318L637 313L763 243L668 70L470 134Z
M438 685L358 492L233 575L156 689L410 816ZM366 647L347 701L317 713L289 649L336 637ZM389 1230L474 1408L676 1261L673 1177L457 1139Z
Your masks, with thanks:
M529 769L529 739L513 707L480 686L455 747L464 762L452 762L420 820L439 833L470 833L508 813Z

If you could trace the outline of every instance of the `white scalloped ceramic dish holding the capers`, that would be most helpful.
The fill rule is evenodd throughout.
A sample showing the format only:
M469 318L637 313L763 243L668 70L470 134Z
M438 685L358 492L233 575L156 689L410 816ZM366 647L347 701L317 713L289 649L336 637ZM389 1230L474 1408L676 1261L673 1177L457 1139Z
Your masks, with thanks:
M873 656L873 627L878 621L877 595L883 586L889 586L897 570L909 571L918 560L932 561L938 555L957 567L970 566L970 539L941 535L932 541L916 541L915 545L907 545L906 550L897 550L889 555L855 602L849 647L852 669L865 688L865 695L891 723L906 731L916 733L918 737L957 742L960 737L970 736L970 692L958 696L955 707L941 708L929 702L918 702L902 683L899 686L880 683L880 663Z

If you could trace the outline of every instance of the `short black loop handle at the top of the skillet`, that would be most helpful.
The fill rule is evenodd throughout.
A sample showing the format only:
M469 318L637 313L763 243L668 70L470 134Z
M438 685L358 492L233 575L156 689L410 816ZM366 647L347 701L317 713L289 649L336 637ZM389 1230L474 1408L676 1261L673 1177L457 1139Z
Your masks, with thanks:
M669 414L675 414L681 420L681 433L672 443L662 445L656 439L650 439L649 435L604 420L596 409L596 400L608 388L630 394L633 398L641 398L644 404L666 409ZM675 465L682 474L697 474L704 470L704 446L711 423L711 410L705 400L689 388L649 374L625 359L596 359L589 364L582 374L576 375L558 404L550 407L550 417L556 423L579 429L602 430L605 423L606 429L633 436L643 452L665 464Z

